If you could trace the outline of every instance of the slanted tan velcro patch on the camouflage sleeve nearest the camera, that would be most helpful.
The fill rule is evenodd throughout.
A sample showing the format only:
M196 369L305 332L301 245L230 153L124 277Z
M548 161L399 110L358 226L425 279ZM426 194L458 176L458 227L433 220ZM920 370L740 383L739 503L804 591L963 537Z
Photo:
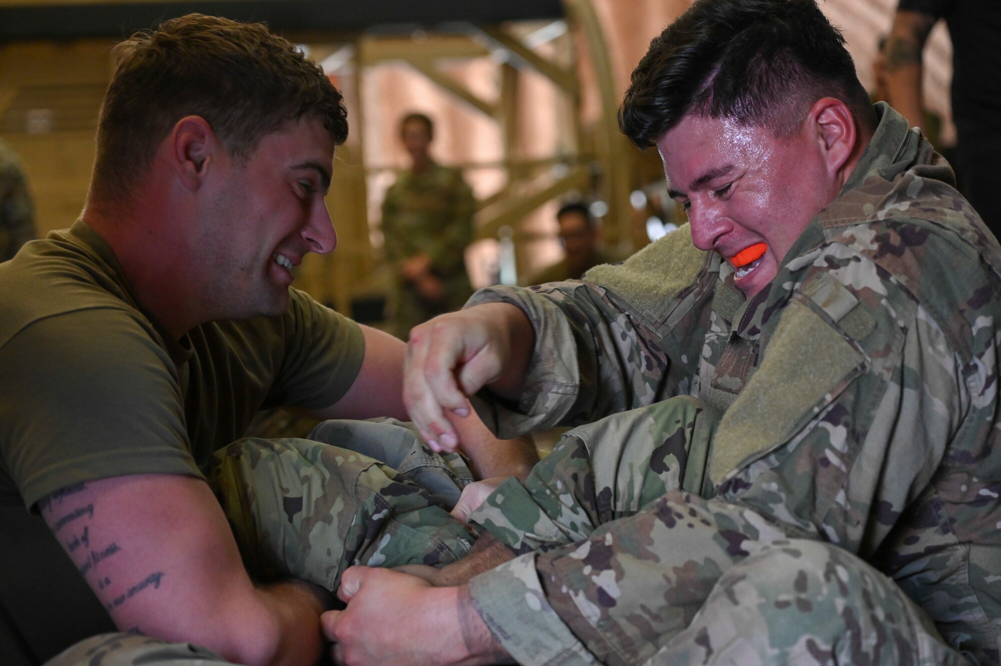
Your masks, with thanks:
M864 364L865 356L820 314L791 301L761 365L723 415L710 460L713 483L787 442Z

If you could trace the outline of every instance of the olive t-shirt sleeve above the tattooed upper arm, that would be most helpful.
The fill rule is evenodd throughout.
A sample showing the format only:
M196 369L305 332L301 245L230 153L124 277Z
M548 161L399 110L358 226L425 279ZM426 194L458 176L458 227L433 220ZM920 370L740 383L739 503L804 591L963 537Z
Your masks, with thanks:
M130 313L36 321L0 349L0 453L27 506L112 476L201 476L175 367Z

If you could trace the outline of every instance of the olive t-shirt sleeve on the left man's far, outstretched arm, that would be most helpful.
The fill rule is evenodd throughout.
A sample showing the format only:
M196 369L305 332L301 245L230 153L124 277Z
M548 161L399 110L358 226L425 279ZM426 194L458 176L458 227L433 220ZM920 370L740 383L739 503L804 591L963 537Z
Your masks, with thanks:
M263 407L329 407L347 393L361 369L361 329L303 292L290 294L284 358Z

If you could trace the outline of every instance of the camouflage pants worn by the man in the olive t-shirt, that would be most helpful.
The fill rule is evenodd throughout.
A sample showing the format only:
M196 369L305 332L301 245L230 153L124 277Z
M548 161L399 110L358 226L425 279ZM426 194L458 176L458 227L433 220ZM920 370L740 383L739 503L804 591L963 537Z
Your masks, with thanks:
M461 457L432 453L392 419L327 421L310 437L321 441L248 438L214 454L209 484L252 577L335 591L352 564L438 566L469 549L475 536L445 509L472 479ZM226 662L195 645L114 633L81 641L46 666L210 663Z

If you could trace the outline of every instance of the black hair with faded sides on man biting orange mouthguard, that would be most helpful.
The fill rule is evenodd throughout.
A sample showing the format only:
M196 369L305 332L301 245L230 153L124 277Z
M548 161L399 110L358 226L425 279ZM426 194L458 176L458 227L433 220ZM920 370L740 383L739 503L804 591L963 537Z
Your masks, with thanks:
M815 0L696 0L650 43L619 126L642 148L692 113L792 136L822 97L876 126L845 38Z

